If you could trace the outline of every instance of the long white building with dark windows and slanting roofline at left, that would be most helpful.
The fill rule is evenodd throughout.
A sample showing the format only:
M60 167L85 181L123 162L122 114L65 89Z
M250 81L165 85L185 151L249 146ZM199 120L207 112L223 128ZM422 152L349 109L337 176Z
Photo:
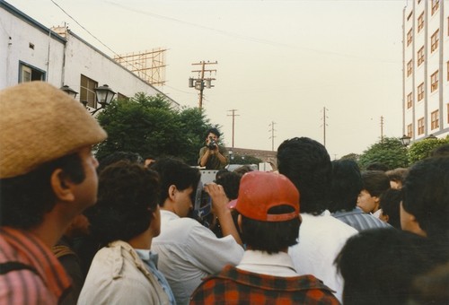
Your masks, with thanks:
M17 83L42 80L68 85L76 99L97 108L94 88L108 84L119 98L136 92L162 94L112 58L66 28L48 29L0 0L0 90Z

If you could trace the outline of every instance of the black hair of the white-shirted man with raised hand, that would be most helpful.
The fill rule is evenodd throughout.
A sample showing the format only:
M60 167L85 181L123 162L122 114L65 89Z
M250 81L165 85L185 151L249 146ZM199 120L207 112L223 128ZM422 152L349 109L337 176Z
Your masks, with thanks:
M150 165L150 169L157 171L161 179L161 199L159 202L161 206L163 206L169 195L170 186L174 185L180 191L192 187L192 194L195 194L199 179L201 179L201 173L198 169L192 168L186 162L172 157L165 157L155 161Z

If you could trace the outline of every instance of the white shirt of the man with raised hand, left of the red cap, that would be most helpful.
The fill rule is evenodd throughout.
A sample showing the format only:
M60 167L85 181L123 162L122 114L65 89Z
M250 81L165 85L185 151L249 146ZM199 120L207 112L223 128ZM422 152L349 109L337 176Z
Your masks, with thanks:
M188 217L161 210L161 235L153 239L159 270L172 287L177 304L187 304L201 279L224 266L237 265L243 248L228 235L222 239Z

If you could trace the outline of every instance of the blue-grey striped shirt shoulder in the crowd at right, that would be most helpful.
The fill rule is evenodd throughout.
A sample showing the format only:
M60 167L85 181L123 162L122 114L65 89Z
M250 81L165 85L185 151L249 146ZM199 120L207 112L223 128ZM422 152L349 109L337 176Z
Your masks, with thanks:
M377 228L392 228L387 222L381 221L371 213L365 213L358 206L352 211L338 211L332 213L332 216L341 222L345 222L357 231L364 231L368 229Z

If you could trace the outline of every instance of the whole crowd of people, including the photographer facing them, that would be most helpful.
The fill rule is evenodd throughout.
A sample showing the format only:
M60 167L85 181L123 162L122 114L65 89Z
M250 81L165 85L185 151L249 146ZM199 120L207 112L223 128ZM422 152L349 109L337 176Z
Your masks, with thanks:
M360 170L295 137L276 172L227 171L212 128L203 186L171 157L97 161L106 132L43 82L0 92L0 130L1 304L449 303L448 147Z

